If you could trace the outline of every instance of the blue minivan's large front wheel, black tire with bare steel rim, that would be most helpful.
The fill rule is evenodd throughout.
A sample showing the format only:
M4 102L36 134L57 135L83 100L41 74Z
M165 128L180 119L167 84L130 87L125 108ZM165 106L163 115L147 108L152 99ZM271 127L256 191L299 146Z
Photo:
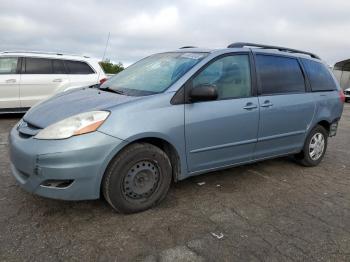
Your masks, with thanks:
M136 213L162 201L169 190L172 167L158 147L135 143L110 163L102 181L107 202L119 213Z

